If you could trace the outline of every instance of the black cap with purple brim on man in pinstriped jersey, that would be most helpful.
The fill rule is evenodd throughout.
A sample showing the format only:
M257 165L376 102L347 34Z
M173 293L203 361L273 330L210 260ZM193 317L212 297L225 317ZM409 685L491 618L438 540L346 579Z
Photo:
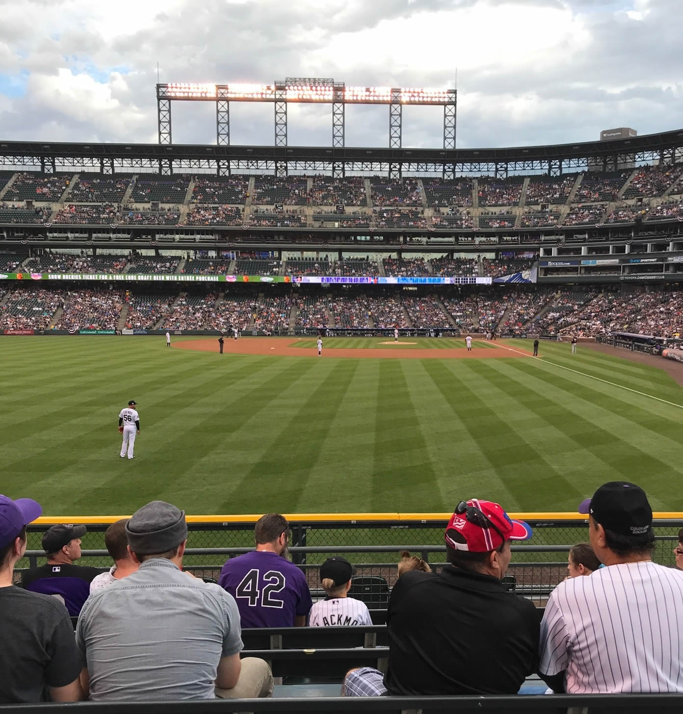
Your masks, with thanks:
M603 528L619 535L644 535L652 528L652 507L645 492L628 481L609 481L579 504Z

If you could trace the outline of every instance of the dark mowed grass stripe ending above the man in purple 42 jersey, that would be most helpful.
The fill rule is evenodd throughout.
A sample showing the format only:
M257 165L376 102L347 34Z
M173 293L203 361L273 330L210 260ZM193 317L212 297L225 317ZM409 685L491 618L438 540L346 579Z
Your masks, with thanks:
M272 438L263 456L234 484L229 505L236 513L244 512L250 503L256 511L294 511L306 488L309 473L314 468L325 438L331 428L336 408L344 399L357 369L355 360L316 361L311 381L306 384L305 400L299 408L289 409L289 419L282 419L278 433ZM317 381L317 383L314 382ZM314 386L315 385L315 386ZM291 405L294 406L294 405ZM286 470L287 477L279 478ZM259 484L275 481L276 489ZM250 484L256 489L249 493ZM311 495L314 498L314 495ZM227 505L227 504L226 504Z

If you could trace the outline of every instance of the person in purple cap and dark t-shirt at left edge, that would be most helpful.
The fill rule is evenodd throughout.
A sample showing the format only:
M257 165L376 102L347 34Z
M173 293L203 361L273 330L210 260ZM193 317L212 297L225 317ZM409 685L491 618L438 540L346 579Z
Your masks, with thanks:
M30 498L0 496L0 705L83 698L69 613L56 598L12 584L26 552L26 525L40 516Z

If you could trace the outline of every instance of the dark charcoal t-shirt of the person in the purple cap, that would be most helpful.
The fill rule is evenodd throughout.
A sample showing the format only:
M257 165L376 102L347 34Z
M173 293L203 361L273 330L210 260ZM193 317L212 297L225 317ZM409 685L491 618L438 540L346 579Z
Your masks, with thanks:
M0 588L0 704L46 700L45 688L65 687L81 671L66 608L50 595Z

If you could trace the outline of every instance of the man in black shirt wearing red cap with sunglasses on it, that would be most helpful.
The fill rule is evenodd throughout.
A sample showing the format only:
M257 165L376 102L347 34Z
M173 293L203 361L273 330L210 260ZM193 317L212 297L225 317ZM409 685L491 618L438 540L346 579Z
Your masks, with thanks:
M387 674L352 670L344 695L394 696L517 693L538 665L535 606L508 593L502 578L510 540L531 529L497 503L462 501L448 523L441 573L412 570L389 599Z

